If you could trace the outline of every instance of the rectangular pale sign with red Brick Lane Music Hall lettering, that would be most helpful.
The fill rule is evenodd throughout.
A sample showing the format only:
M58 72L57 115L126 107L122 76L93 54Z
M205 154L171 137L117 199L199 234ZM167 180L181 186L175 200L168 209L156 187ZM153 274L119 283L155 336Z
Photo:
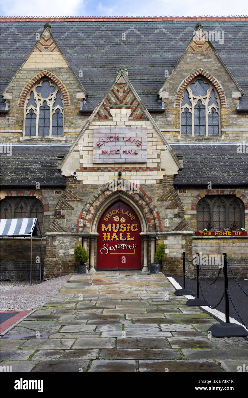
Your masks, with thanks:
M94 163L146 163L146 127L95 128Z

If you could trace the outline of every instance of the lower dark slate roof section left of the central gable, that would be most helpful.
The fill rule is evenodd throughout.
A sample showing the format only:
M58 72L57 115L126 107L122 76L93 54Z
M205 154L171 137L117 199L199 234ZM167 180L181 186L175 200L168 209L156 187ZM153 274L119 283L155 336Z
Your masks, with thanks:
M1 145L4 151L4 144ZM65 187L66 177L57 170L58 154L65 155L71 144L13 144L12 156L1 153L1 186ZM9 152L9 150L8 150Z

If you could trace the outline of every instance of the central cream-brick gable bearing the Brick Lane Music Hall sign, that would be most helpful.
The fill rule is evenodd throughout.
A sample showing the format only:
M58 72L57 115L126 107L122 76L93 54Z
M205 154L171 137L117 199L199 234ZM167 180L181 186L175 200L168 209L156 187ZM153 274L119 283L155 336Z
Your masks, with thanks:
M167 153L167 166L171 174L176 174L181 169L178 159L133 88L127 71L121 67L60 167L64 175L84 168L94 169L94 164L106 167L148 165L152 166L151 170L160 170L160 152ZM70 169L72 164L74 170Z

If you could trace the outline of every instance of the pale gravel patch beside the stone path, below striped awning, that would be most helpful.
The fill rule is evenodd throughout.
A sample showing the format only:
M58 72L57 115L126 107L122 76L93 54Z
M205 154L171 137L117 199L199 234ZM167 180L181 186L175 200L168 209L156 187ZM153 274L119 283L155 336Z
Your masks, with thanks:
M49 281L1 281L1 311L34 310L55 297L72 275Z

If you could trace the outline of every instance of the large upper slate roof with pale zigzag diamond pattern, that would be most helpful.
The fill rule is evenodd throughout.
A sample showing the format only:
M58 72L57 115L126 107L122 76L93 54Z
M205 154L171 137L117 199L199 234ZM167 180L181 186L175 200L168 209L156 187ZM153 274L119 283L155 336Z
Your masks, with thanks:
M51 32L87 91L84 109L93 110L124 65L147 109L160 110L157 92L193 37L192 21L51 21ZM248 109L248 23L203 21L204 31L224 31L224 43L212 44L244 91L240 109ZM42 33L44 21L2 22L1 92ZM122 35L125 33L125 40ZM3 105L2 105L3 107Z

